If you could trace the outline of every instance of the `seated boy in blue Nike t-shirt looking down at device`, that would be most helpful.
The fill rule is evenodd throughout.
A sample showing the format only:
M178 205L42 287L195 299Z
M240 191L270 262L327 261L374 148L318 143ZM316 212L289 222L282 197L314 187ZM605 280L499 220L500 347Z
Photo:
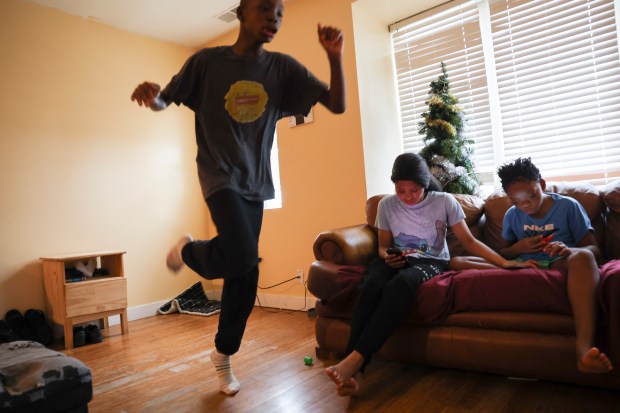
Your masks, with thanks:
M545 181L530 158L519 158L497 171L514 204L504 216L499 253L507 259L534 260L543 269L568 273L568 299L576 332L577 368L607 373L611 361L594 343L599 249L583 207L574 199L544 192ZM453 269L491 268L477 257L458 257Z

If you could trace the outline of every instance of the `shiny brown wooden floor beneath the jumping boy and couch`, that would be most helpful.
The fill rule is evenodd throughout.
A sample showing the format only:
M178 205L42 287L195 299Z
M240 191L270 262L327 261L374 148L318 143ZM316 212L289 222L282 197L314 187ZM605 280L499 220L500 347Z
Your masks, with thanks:
M342 398L323 374L333 361L314 354L314 319L260 308L233 358L241 391L230 397L218 391L208 357L217 320L159 315L130 322L127 335L113 326L103 342L65 351L92 369L90 413L620 412L620 392L380 360L367 369L367 394Z

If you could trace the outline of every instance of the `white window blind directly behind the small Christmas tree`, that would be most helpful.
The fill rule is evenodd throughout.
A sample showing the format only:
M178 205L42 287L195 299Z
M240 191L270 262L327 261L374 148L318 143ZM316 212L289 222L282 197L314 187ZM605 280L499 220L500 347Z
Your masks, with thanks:
M391 26L405 152L424 146L418 133L430 83L446 64L450 89L465 114L465 136L475 141L478 172L493 171L493 144L484 52L473 2L452 2Z

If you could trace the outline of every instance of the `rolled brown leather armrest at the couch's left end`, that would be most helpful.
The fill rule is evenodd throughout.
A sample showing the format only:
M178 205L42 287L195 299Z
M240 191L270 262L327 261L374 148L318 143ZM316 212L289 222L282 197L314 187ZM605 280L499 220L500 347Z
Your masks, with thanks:
M377 235L369 225L321 232L312 246L320 261L340 265L368 265L377 256Z

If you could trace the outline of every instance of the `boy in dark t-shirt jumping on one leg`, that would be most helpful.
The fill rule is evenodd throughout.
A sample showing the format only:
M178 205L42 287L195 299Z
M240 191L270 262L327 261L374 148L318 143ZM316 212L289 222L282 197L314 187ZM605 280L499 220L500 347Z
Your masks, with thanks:
M292 57L263 48L280 29L283 14L282 0L241 0L232 46L200 50L163 90L144 82L131 95L155 111L174 102L195 113L198 176L218 235L207 241L184 235L166 265L224 279L211 360L220 390L230 395L240 389L230 356L241 345L258 285L263 201L274 196L270 152L276 122L306 115L317 101L333 113L345 110L341 31L318 26L330 66L327 86Z

